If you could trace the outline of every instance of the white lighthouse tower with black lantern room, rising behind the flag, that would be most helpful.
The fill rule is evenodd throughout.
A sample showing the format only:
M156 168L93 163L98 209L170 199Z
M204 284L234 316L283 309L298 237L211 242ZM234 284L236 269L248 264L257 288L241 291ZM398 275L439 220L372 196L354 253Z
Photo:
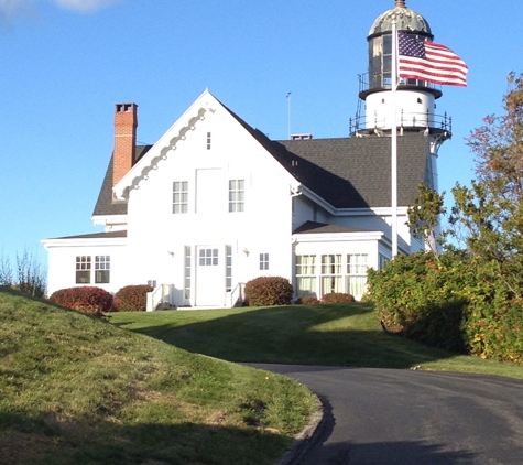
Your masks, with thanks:
M420 13L406 8L405 0L395 0L393 9L385 11L372 24L369 42L368 73L360 75L360 93L356 120L351 132L356 136L390 136L395 123L399 136L405 132L423 132L427 137L428 151L426 181L437 191L437 152L440 144L451 137L451 119L438 115L436 100L443 93L440 86L425 80L401 78L392 93L392 23L399 32L433 41L428 22ZM394 101L395 99L395 101ZM363 105L364 104L364 105ZM364 106L364 112L362 107Z

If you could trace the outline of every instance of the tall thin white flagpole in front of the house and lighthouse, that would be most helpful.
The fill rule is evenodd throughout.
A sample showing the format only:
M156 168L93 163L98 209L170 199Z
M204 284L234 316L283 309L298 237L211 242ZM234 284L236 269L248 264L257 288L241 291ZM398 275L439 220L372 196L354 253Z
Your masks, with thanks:
M392 130L391 130L391 203L392 203L392 258L397 256L397 28L392 20Z

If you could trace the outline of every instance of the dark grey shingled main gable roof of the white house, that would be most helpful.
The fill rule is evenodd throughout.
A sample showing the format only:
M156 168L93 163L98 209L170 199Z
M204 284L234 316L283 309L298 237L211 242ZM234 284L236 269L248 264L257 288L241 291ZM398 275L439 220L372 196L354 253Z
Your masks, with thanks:
M372 134L362 138L272 141L226 106L224 108L294 179L335 208L391 206L391 138ZM151 147L137 147L134 163ZM427 182L427 152L428 138L423 133L405 132L397 138L399 206L412 205L418 194L418 185ZM94 216L126 214L127 201L113 202L111 158Z

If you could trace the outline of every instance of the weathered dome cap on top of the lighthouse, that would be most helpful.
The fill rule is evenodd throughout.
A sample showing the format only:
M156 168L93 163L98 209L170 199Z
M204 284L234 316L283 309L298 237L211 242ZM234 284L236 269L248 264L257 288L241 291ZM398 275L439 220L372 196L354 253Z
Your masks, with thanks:
M427 20L420 13L406 8L404 0L396 0L392 10L385 11L372 24L369 31L369 37L382 35L392 32L392 21L396 20L399 31L407 31L413 34L434 39Z

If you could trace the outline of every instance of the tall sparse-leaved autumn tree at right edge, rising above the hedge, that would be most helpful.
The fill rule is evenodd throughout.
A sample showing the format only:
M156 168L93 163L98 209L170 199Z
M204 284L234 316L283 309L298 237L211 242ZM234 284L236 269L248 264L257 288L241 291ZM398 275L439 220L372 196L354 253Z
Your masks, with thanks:
M511 73L504 113L483 118L468 145L476 180L453 190L449 223L466 231L466 247L481 270L500 278L514 296L523 289L523 75ZM455 234L456 235L456 234Z

